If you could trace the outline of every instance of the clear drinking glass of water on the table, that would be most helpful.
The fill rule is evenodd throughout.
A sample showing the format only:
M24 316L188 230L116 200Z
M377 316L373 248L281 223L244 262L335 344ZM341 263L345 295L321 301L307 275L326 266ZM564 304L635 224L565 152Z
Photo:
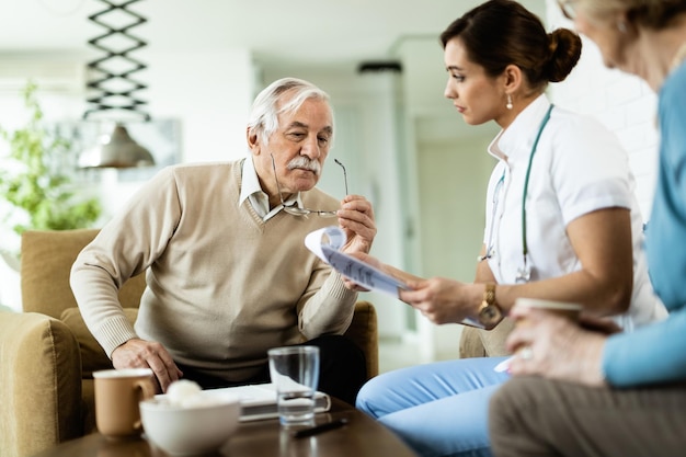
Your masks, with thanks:
M315 422L315 392L319 381L319 347L286 346L268 352L270 374L276 388L283 425Z

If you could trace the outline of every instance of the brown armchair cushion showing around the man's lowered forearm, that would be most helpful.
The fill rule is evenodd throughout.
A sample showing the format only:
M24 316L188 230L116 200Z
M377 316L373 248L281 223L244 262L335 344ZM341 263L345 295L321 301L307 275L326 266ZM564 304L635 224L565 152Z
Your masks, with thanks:
M124 315L129 322L135 323L138 317L138 308L124 308ZM112 361L105 354L100 343L95 340L93 334L81 316L81 311L78 307L67 308L62 311L60 320L69 327L69 330L73 333L79 347L81 350L81 369L83 372L82 377L90 379L93 377L93 372L99 369L112 368Z

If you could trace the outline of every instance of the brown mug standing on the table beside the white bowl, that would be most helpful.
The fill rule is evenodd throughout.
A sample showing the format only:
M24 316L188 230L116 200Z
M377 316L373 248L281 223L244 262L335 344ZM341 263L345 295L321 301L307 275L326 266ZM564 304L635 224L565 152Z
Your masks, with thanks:
M150 368L104 369L93 373L95 379L95 423L110 438L139 436L142 432L141 400L155 396Z

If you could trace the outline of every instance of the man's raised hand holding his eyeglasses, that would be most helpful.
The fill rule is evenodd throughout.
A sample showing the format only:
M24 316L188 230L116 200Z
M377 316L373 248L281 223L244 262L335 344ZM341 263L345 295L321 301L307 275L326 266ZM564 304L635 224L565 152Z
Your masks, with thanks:
M345 231L347 241L341 251L368 253L376 236L374 209L367 199L359 195L346 195L339 209L339 226Z

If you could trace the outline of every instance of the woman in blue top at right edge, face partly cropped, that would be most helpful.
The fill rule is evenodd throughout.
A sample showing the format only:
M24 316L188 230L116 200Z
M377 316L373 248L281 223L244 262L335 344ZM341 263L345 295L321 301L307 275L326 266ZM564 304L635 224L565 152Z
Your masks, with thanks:
M659 93L660 168L648 264L666 320L633 333L582 330L525 309L511 349L531 357L491 405L498 456L683 456L686 449L686 0L560 1L605 64Z

